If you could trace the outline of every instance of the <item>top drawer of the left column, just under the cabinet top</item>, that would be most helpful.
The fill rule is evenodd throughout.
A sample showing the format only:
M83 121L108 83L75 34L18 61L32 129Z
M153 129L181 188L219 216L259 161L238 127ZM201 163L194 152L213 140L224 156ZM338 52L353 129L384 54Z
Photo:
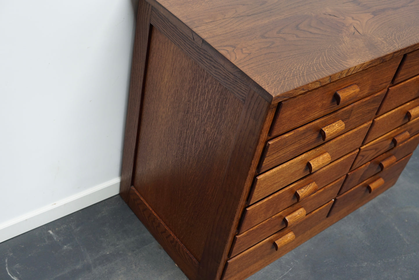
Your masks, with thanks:
M391 83L400 60L401 57L396 57L282 101L269 136L280 135L386 88ZM340 94L340 100L337 93Z

